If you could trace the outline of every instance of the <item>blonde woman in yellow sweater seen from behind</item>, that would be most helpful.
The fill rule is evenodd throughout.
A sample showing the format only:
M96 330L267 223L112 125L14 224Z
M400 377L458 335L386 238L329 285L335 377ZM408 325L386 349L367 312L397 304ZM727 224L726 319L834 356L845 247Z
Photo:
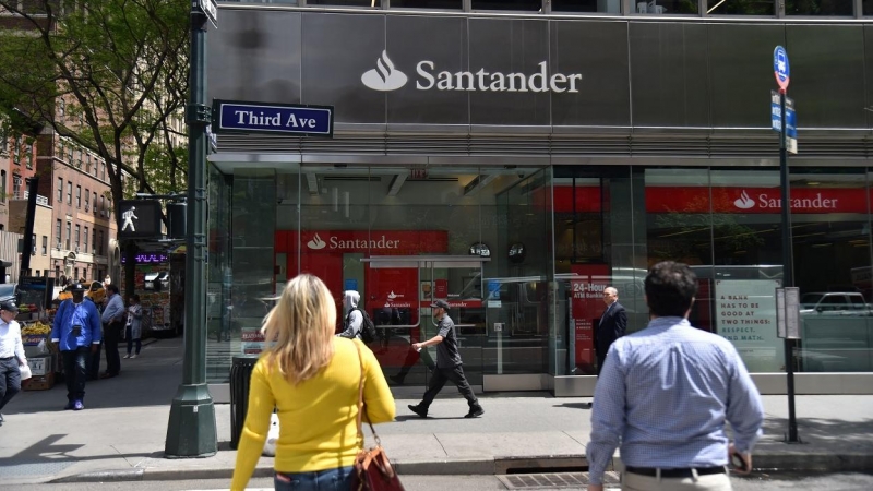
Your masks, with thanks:
M358 391L363 361L366 418L394 419L394 397L370 349L334 336L336 303L312 275L288 282L264 319L262 332L275 340L252 372L249 408L240 435L231 491L246 489L261 456L270 415L277 408L277 490L350 489L358 440Z

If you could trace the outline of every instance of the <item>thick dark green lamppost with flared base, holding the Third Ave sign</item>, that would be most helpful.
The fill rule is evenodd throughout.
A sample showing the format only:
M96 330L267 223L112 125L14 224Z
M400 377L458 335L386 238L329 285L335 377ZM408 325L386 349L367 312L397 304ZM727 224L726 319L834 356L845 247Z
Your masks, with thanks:
M170 406L165 456L208 457L218 451L215 406L206 386L206 15L191 11L191 93L188 123L188 230L186 232L184 364Z

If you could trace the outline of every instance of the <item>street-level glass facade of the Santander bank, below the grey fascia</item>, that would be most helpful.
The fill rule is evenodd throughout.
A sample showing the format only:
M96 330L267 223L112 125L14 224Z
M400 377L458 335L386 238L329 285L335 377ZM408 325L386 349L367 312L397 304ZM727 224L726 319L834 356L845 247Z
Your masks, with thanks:
M804 372L873 370L871 172L792 170L791 236ZM613 286L630 331L663 260L699 282L693 324L730 339L752 372L785 370L775 168L289 165L213 167L208 381L259 352L271 298L298 273L360 292L394 386L423 387L430 302L447 299L474 385L486 375L594 374L593 332ZM827 295L825 295L827 294ZM340 330L342 325L337 325Z

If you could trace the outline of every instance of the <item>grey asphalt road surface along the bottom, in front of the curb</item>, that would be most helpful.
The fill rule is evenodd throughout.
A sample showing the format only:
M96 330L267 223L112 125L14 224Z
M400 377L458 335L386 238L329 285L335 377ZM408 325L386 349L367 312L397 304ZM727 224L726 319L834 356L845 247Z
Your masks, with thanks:
M452 490L505 490L497 476L403 476L407 491L444 491ZM825 476L768 475L758 472L752 478L732 479L734 491L778 491L778 490L828 490L828 491L868 491L873 489L873 475L833 474ZM145 482L105 482L81 484L33 484L17 486L19 491L226 491L229 482L225 479L196 481L145 481ZM249 483L250 491L273 489L272 479L253 479ZM579 489L579 488L550 488Z

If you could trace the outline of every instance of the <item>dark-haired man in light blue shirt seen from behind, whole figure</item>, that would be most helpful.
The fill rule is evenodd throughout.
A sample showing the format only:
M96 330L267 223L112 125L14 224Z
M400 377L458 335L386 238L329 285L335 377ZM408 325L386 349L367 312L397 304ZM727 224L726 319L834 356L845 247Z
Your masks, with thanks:
M651 321L612 344L597 381L588 490L603 489L617 446L624 490L730 490L730 456L736 471L752 467L761 395L733 345L689 323L697 278L687 265L656 264L645 291Z

